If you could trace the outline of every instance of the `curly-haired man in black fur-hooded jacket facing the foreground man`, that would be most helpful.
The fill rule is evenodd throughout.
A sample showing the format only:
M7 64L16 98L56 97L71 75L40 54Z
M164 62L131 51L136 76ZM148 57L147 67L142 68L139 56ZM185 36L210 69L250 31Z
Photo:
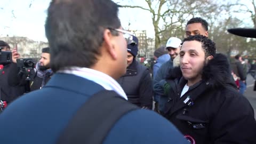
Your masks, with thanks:
M159 89L167 95L163 115L193 143L256 143L250 102L230 79L230 65L202 35L183 40L180 67Z

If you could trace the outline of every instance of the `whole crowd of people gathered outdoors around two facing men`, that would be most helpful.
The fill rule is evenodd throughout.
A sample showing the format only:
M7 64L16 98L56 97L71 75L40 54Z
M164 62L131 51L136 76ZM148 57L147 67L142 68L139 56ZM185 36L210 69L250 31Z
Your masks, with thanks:
M52 1L45 33L49 47L33 70L17 65L15 48L4 65L1 142L256 143L243 95L255 60L217 53L206 20L188 20L185 38L170 35L151 75L111 0Z

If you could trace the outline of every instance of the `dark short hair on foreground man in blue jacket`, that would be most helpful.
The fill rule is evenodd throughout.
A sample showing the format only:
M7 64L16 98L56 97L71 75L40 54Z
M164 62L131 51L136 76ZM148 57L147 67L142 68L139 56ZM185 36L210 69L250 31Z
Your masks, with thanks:
M104 30L119 27L118 5L110 0L52 1L45 23L52 70L93 66Z

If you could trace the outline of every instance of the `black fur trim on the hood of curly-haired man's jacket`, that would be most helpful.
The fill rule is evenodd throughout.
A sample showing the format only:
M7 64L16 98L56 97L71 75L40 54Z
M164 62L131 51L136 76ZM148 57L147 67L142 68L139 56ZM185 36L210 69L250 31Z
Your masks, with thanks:
M170 69L166 79L181 78L182 72L180 67ZM230 63L226 55L217 53L203 68L202 81L209 82L211 87L223 87L225 85L236 88L235 81L231 76Z

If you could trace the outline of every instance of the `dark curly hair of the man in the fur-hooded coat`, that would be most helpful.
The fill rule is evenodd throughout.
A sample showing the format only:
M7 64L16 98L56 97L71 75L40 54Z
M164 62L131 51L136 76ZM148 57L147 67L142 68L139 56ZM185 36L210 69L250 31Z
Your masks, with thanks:
M210 55L214 56L216 54L216 45L215 45L215 43L206 36L203 36L203 35L189 36L189 37L187 37L183 40L183 43L186 42L186 41L200 42L202 44L202 49L205 51L205 57L208 57Z

